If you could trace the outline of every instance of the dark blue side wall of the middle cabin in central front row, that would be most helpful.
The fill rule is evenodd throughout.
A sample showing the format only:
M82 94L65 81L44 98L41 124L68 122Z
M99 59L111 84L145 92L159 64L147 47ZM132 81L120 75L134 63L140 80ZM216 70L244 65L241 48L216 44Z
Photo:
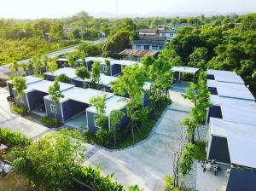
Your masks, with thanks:
M64 121L67 121L68 119L71 119L73 116L85 111L87 107L89 107L87 104L79 101L68 100L63 102L62 111Z

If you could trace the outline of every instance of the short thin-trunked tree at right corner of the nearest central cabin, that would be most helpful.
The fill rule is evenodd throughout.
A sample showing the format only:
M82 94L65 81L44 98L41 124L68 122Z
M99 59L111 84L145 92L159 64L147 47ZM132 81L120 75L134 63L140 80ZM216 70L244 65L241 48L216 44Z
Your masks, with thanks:
M116 137L116 128L120 123L120 120L123 119L125 113L119 110L113 110L110 113L110 132L113 134L113 148L116 146L117 137Z

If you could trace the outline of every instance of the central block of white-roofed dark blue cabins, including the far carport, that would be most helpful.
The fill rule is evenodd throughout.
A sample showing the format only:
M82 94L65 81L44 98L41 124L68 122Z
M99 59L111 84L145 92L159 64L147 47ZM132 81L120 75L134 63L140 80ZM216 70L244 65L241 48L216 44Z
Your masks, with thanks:
M117 63L119 63L120 68L124 68L125 66L133 66L137 62L134 61L116 61L113 59L108 59L111 63L111 68L116 67ZM85 60L86 67L91 70L91 66L93 61L100 61L102 64L102 68L106 67L105 58L102 57L88 57ZM78 61L79 66L82 65L82 61ZM140 63L138 63L140 65ZM173 67L173 74L177 77L176 81L181 79L181 72L194 72L194 76L198 68L190 68L190 67ZM104 72L104 69L102 70ZM120 74L118 72L118 74ZM53 81L57 76L61 74L65 74L68 78L70 78L70 82L67 84L60 83L61 85L61 92L64 96L61 99L61 103L56 106L55 104L49 99L48 90L49 86L53 84ZM36 78L33 76L26 76L26 94L21 98L20 101L15 100L18 104L22 107L25 107L29 113L40 113L42 115L47 115L50 118L55 118L55 109L57 111L57 119L62 123L67 123L70 120L76 119L79 115L83 114L85 111L84 118L86 118L85 126L87 126L88 130L95 132L97 130L96 125L94 123L94 116L95 116L95 109L94 107L89 106L90 98L94 96L100 96L103 94L107 94L107 101L106 101L106 111L107 115L114 109L124 109L125 111L125 101L119 101L122 97L114 96L111 92L111 83L116 80L117 76L108 76L104 73L101 73L100 76L100 84L102 85L102 90L93 90L94 86L90 87L90 79L85 78L84 82L89 84L88 89L83 88L83 80L79 78L76 73L75 69L71 67L63 67L55 72L45 72L44 77L46 80L42 78ZM15 97L15 90L13 89L12 81L9 81L9 93L10 96ZM147 90L149 84L146 83L144 85L144 90ZM144 94L143 96L143 103L144 106L148 104L148 95ZM123 106L121 108L120 106ZM122 119L119 126L122 126L123 122L127 120L127 116Z

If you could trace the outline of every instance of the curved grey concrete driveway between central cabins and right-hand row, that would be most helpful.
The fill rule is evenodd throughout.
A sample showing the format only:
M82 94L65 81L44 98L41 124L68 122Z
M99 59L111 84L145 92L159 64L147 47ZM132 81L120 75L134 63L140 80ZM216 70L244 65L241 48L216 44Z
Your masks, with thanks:
M101 165L102 172L111 174L128 187L137 184L144 190L164 190L164 176L172 174L172 159L167 148L177 136L177 127L188 116L191 104L179 92L170 91L172 106L163 114L160 123L143 142L119 151L98 149L85 164Z

